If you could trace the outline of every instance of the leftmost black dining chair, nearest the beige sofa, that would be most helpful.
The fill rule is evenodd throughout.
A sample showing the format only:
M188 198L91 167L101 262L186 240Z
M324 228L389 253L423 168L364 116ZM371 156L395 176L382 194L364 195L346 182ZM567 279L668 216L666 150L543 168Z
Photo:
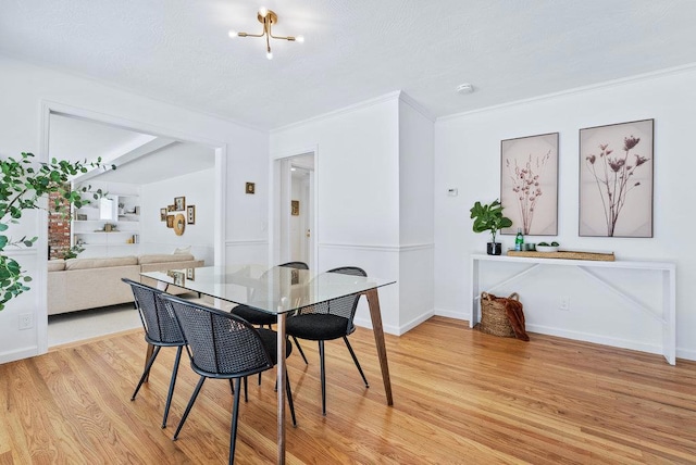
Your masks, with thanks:
M182 349L186 344L184 336L179 329L178 323L170 309L164 305L161 300L163 292L150 286L141 285L128 278L122 278L122 281L130 286L133 297L135 298L135 306L140 315L140 322L145 329L145 340L154 347L152 355L148 359L142 376L135 388L132 401L135 401L140 387L148 379L150 368L154 360L163 347L175 347L176 357L174 359L174 367L172 368L172 378L170 380L170 389L166 394L166 403L164 404L164 416L162 418L162 428L166 427L166 417L172 405L172 397L174 395L174 386L176 385L176 374L178 373L178 364L182 360Z

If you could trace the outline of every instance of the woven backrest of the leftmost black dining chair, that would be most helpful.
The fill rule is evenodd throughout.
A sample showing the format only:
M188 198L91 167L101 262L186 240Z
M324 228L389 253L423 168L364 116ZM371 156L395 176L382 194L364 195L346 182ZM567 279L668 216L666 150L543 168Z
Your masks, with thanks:
M135 305L145 328L145 339L153 344L184 344L178 323L161 299L164 292L128 278L121 280L133 290Z

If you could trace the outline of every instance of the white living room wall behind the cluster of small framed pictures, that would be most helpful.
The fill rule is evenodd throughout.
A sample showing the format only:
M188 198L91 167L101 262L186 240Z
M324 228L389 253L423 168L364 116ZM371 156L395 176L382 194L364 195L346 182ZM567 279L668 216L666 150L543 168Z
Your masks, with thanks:
M174 249L190 247L196 259L207 265L214 263L213 226L215 215L214 169L203 169L152 183L141 188L140 253L172 253ZM186 206L196 206L196 223L187 224L182 236L176 236L166 222L160 221L160 209L174 203L175 197L185 197ZM186 211L182 213L186 217Z

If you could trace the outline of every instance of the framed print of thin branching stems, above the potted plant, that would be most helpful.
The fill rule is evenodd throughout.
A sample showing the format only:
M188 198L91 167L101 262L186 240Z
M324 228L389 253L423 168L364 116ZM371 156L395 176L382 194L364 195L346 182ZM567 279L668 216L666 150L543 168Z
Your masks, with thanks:
M500 141L500 203L525 236L558 235L558 133Z

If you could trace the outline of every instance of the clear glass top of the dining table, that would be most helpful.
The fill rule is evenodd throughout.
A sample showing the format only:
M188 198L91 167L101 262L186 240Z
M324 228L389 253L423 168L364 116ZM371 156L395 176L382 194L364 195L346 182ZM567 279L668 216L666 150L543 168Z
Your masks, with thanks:
M303 306L364 292L396 282L373 277L322 273L264 265L203 266L140 273L174 285L268 313L287 313Z

